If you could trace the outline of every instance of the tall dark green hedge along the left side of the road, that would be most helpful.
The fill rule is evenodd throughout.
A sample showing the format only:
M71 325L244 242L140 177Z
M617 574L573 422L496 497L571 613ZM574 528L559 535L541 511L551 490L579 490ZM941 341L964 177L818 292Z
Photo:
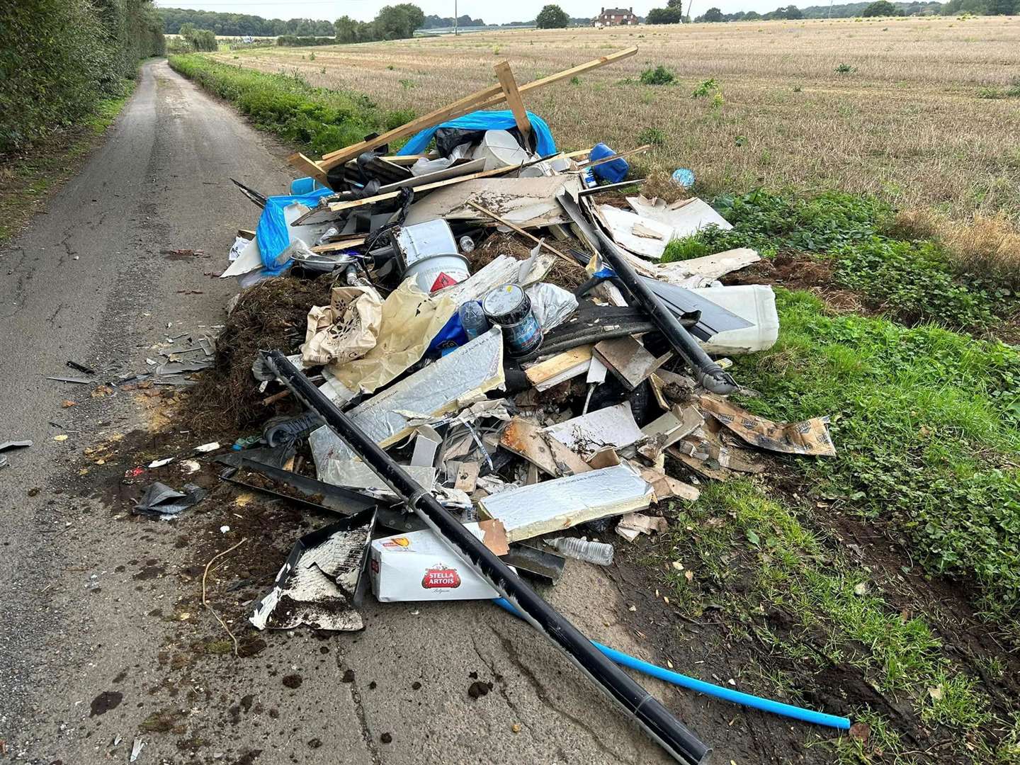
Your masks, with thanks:
M0 3L0 154L80 122L163 50L152 0Z

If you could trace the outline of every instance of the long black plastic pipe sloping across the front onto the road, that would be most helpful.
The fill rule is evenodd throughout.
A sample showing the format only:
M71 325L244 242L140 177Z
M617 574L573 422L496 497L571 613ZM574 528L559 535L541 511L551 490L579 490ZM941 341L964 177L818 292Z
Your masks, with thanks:
M574 665L634 717L677 762L708 761L709 748L648 691L603 656L581 632L507 568L496 555L437 499L415 482L379 446L313 386L279 351L266 355L269 368L298 400L318 412L329 428L465 563L512 603L531 625L566 653Z

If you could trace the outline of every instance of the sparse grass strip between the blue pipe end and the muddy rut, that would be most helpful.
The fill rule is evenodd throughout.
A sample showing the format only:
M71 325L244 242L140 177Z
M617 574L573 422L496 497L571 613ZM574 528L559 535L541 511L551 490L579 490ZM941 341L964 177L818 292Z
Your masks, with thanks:
M924 617L905 616L886 603L871 572L849 563L817 526L803 509L751 480L713 482L697 503L676 510L667 544L657 546L671 552L660 554L656 568L668 571L670 600L681 610L697 616L709 604L721 608L736 634L753 634L790 666L767 671L752 662L742 670L744 683L803 704L799 688L810 687L812 674L851 665L887 698L914 706L926 724L966 734L982 757L991 752L996 743L984 736L1007 723L990 714L976 679L945 657ZM787 618L777 620L777 613ZM905 751L900 733L874 710L857 704L851 718L870 724L871 738L826 741L837 762L885 761L871 757ZM962 740L959 754L961 762L972 761Z

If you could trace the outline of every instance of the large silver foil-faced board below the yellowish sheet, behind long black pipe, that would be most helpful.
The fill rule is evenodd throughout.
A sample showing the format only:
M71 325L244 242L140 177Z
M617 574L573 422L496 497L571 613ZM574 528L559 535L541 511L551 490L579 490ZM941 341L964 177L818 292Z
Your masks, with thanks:
M348 416L385 448L411 430L401 412L437 415L461 409L503 381L503 335L496 327L359 404ZM327 460L355 457L326 425L313 430L308 444L322 480L326 480Z

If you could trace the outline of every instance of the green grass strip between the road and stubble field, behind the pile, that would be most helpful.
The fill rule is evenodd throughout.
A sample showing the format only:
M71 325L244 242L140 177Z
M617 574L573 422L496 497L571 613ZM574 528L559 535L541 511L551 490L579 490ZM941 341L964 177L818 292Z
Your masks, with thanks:
M295 74L267 74L200 54L169 57L170 66L210 93L231 101L259 130L321 155L366 135L412 119L409 109L382 112L357 93L313 88Z

